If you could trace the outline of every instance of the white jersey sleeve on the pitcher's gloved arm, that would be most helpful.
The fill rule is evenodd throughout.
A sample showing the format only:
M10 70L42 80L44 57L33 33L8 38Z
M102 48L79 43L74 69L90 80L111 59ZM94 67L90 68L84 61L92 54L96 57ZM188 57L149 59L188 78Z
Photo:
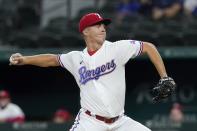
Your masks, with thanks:
M126 64L130 58L139 56L143 51L143 42L136 40L116 41L116 54L122 64Z

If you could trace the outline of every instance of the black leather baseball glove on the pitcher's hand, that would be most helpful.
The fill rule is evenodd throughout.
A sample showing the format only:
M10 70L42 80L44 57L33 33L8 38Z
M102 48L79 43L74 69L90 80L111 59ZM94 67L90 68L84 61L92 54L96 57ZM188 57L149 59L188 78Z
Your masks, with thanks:
M164 77L159 80L159 83L152 89L153 102L159 102L175 92L176 83L171 77Z

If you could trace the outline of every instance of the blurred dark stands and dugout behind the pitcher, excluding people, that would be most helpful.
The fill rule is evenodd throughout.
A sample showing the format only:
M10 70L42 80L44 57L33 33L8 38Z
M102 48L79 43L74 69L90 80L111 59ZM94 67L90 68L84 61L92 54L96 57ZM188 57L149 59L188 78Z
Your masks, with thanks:
M12 102L26 116L23 124L1 123L0 131L69 129L74 119L63 124L52 119L57 109L64 108L73 116L80 109L79 89L71 74L61 67L9 66L8 59L15 52L33 55L82 50L85 44L78 33L78 21L89 12L99 12L114 21L108 40L136 39L155 44L169 76L177 82L176 95L153 104L149 89L159 79L156 70L147 58L129 61L126 114L153 131L197 130L197 17L185 14L182 3L180 12L171 18L156 20L137 11L116 23L120 1L0 0L0 89L10 92ZM175 103L184 115L181 123L169 121Z

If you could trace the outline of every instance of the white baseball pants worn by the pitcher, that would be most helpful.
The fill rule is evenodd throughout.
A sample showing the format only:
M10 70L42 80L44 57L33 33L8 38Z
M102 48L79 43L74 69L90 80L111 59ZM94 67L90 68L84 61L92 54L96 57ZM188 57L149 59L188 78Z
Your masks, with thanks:
M139 122L123 115L112 124L107 124L89 116L85 111L80 110L74 125L69 131L151 131Z

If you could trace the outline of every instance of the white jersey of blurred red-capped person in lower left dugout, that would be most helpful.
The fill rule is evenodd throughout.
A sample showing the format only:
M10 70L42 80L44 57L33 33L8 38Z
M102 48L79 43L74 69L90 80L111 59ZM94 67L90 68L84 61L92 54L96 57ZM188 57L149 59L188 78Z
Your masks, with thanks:
M0 120L13 119L17 117L24 117L24 113L18 105L9 103L5 108L0 108Z

